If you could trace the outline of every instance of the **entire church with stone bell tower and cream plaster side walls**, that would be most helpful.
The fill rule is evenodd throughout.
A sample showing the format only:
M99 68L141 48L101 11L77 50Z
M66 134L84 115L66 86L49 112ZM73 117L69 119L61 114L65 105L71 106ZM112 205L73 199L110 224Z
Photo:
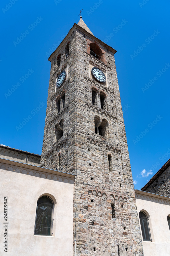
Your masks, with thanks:
M157 249L148 245L157 238L142 207L153 191L134 190L115 53L80 17L49 57L42 155L0 145L1 255L150 256L148 248Z

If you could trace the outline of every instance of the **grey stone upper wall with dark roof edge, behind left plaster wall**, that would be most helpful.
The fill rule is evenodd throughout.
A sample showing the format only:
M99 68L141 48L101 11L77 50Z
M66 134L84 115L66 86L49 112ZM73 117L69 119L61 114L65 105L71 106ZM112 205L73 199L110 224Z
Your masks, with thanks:
M41 156L16 148L0 145L0 157L32 165L40 166Z

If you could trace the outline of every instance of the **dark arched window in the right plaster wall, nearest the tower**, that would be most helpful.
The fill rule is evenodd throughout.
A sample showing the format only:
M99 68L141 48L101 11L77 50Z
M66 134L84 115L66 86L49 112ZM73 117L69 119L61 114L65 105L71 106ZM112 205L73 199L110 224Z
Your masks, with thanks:
M140 226L142 230L143 241L151 241L148 218L144 212L139 212Z

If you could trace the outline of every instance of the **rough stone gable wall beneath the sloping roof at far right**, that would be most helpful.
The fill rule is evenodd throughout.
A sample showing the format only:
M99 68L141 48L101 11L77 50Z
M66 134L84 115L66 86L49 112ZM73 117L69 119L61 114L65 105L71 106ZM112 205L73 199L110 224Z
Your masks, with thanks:
M145 191L170 197L170 166Z

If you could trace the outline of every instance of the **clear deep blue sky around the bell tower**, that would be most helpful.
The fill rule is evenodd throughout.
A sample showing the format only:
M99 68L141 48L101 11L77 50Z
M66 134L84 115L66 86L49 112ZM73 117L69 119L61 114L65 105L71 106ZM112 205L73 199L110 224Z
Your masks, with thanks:
M0 144L41 154L47 59L79 22L81 9L92 33L117 50L130 163L140 189L170 158L170 3L165 0L2 0ZM21 35L23 40L17 41ZM26 124L16 129L24 119Z

